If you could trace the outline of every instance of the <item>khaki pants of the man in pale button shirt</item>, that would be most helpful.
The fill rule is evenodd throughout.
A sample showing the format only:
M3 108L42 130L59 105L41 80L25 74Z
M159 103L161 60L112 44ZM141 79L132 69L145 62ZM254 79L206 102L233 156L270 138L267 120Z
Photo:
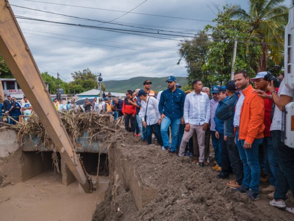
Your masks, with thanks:
M190 131L185 131L182 142L180 145L180 151L179 156L183 156L187 143L189 142L189 139L193 136L193 134L196 132L197 140L198 140L198 146L199 146L199 162L204 161L204 140L205 140L205 131L203 131L203 125L193 125L190 124Z

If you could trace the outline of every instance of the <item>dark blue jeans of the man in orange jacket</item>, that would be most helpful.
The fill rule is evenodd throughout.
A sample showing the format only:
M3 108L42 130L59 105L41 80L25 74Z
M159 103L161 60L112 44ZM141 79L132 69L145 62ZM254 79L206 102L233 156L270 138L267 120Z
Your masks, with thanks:
M236 132L236 144L238 147L240 159L243 163L244 178L242 185L258 193L260 182L260 165L258 157L258 147L263 138L254 139L250 149L244 149L244 139L239 139L239 130Z

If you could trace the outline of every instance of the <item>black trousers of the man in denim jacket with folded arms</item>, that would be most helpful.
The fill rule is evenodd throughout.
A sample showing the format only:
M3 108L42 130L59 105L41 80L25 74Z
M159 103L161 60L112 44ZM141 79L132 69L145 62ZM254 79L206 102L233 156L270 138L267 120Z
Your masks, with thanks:
M235 138L227 137L227 151L231 162L231 167L236 175L236 181L239 185L242 184L244 178L243 163L240 160L239 151L235 143Z

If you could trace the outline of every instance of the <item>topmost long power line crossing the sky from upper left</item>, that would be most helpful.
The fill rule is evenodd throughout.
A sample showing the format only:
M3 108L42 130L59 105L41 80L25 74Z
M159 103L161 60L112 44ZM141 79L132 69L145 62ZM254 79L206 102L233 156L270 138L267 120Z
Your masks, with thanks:
M105 8L95 8L95 7L87 7L87 6L72 5L72 4L53 3L53 2L47 2L47 1L36 1L36 0L25 0L25 1L32 1L32 2L39 2L39 3L47 3L47 4L55 4L55 5L63 5L63 6L71 6L71 7L79 7L79 8L97 9L97 10L104 10L104 11L115 11L115 12L123 12L123 13L126 13L127 12L127 11L121 11L121 10L113 10L113 9L105 9ZM148 16L172 18L172 19L192 20L192 21L199 21L199 22L214 22L214 21L201 20L201 19L182 18L182 17L174 17L174 16L166 16L166 15L155 15L155 14L147 14L147 13L139 13L139 12L129 12L129 13L130 14L137 14L137 15L148 15Z

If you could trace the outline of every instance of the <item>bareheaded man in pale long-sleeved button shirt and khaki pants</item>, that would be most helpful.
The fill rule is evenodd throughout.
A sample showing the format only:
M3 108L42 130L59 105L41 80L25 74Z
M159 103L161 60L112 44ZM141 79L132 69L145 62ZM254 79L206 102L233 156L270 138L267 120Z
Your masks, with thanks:
M202 82L195 80L194 91L187 94L184 103L185 132L181 141L179 157L184 155L189 139L196 132L199 146L199 166L204 167L204 139L210 119L210 102L206 93L201 92Z

